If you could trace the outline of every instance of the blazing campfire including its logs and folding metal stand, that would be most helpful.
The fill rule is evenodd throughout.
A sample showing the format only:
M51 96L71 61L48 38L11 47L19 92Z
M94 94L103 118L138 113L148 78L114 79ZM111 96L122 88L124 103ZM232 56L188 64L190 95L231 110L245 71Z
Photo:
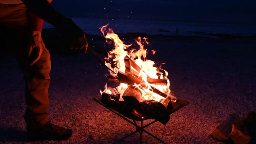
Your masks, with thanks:
M113 144L137 132L140 132L140 143L142 132L165 143L145 128L157 121L166 124L170 120L170 114L186 106L188 101L177 99L171 94L168 72L161 68L164 63L157 67L154 61L146 58L149 52L144 46L149 43L145 37L138 37L135 44L127 45L107 26L108 24L100 30L107 43L113 45L113 49L108 51L108 57L104 58L90 48L88 50L108 68L110 74L107 75L107 80L118 82L118 86L112 88L106 83L105 89L100 91L101 98L94 100L136 127L135 131ZM155 54L156 51L152 50L150 53ZM143 125L143 121L147 119L154 120ZM138 125L136 121L141 124Z

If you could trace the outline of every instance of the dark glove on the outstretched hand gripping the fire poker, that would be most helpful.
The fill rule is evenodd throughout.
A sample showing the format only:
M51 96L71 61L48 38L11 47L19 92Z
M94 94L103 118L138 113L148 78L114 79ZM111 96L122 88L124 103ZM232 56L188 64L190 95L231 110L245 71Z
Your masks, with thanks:
M85 34L71 18L66 18L61 25L56 26L56 29L62 34L71 49L79 49L87 53L88 43Z

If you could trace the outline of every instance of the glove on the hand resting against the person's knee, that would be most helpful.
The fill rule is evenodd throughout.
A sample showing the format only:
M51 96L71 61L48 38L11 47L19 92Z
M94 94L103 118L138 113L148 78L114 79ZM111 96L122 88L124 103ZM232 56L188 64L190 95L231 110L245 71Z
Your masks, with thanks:
M29 35L27 56L29 65L35 64L41 57L43 52L43 40L40 31L32 31Z

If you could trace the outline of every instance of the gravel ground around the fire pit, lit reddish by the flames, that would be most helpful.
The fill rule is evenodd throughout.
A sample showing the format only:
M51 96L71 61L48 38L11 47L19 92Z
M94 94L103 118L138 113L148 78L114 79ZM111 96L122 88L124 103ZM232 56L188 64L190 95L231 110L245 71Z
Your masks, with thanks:
M167 143L221 144L209 136L220 122L231 113L244 117L256 111L256 41L160 37L148 39L157 51L152 60L166 63L172 93L190 104L170 115L166 125L156 122L146 130ZM107 144L135 130L93 101L101 97L108 71L90 54L52 55L51 60L49 119L72 128L73 136L31 143ZM1 57L0 67L0 143L26 143L22 73L9 54ZM139 134L120 143L139 143ZM143 143L158 141L144 133Z

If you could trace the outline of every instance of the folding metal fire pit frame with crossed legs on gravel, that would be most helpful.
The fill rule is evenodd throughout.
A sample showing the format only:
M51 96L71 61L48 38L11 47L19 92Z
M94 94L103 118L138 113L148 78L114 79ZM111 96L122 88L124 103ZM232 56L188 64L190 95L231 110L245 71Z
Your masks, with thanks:
M113 107L110 104L105 104L101 101L101 98L93 98L93 100L95 100L96 102L98 102L99 104L103 105L105 108L109 109L110 111L112 111L113 113L117 114L118 116L120 116L121 118L123 118L124 120L126 120L127 122L129 122L130 124L134 125L136 127L136 130L134 132L131 132L130 134L127 134L126 136L116 140L115 142L113 142L112 144L115 144L117 142L122 141L123 139L139 132L140 133L140 144L142 143L142 132L144 131L145 133L147 133L148 135L152 136L153 138L157 139L158 141L167 144L166 142L164 142L163 140L159 139L158 137L156 137L155 135L151 134L150 132L146 131L145 128L152 125L153 123L157 122L157 120L153 120L152 122L146 124L143 126L143 121L150 119L144 116L140 116L137 115L133 112L127 112L127 111L123 111L122 109L118 109L118 107ZM177 102L172 102L173 104L173 110L170 112L170 114L176 112L177 110L181 109L182 107L186 106L189 102L186 100L181 100L178 99ZM131 120L132 121L131 121ZM140 125L138 125L136 123L136 121L140 121Z

